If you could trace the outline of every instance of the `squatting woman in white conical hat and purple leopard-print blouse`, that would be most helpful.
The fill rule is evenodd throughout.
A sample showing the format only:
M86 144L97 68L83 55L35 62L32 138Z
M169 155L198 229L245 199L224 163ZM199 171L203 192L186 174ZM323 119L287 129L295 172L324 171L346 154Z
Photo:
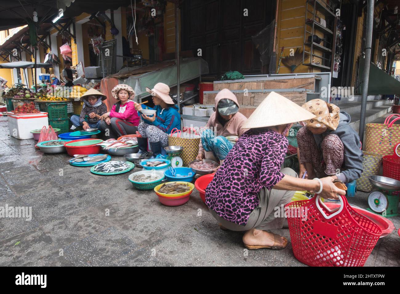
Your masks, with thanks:
M323 198L338 198L345 191L332 177L301 179L290 168L281 170L288 148L286 136L294 122L314 118L294 102L271 92L248 118L240 136L206 188L206 204L221 228L246 231L248 249L282 249L288 240L268 232L283 227L281 205L296 190L314 191Z

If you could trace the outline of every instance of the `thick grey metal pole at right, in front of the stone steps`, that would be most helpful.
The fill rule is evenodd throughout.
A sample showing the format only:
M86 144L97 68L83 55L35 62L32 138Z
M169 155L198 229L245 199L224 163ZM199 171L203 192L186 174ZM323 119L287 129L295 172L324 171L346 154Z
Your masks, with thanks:
M370 62L371 62L371 46L372 46L372 27L374 24L374 0L368 0L368 18L367 18L367 37L366 37L366 48L365 48L365 60L364 60L364 72L362 74L362 100L361 100L361 115L360 115L360 128L358 135L360 136L361 142L364 139L364 128L365 128L365 112L367 108L368 98L368 80L370 76Z

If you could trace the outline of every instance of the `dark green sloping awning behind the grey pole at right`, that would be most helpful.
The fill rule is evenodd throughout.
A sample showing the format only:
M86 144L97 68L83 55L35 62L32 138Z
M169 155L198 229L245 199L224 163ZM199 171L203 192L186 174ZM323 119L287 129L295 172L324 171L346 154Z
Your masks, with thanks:
M364 58L360 58L360 82L364 73ZM400 82L371 62L368 95L400 95Z

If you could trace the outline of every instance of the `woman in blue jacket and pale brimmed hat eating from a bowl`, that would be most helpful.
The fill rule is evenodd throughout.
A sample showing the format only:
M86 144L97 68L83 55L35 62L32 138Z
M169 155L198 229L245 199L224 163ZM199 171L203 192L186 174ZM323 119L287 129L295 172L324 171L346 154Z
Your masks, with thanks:
M158 83L153 89L146 87L146 91L152 94L154 108L146 106L144 109L156 110L153 116L142 114L143 122L138 126L142 138L138 138L139 153L146 152L146 140L150 141L153 156L161 154L161 148L168 146L168 134L174 128L180 130L180 113L175 106L169 93L168 85ZM141 104L135 103L135 108L139 112L143 109Z

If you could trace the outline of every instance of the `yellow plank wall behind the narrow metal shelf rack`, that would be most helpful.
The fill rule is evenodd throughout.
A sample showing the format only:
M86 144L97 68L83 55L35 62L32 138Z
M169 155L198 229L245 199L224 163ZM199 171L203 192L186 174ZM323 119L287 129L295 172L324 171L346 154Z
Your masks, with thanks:
M308 6L309 10L312 10L311 6ZM307 18L312 18L310 12L307 12ZM317 12L317 16L324 18L320 12ZM306 21L306 0L280 0L278 7L278 36L276 41L276 67L278 68L279 57L281 48L284 47L283 57L289 56L290 49L303 51L304 42L304 26ZM311 31L311 27L308 27L308 31ZM315 30L315 34L323 38L323 33ZM306 51L310 51L309 47L306 47ZM322 52L314 50L314 54L322 55ZM314 62L321 62L321 58L315 58ZM309 62L304 60L305 63ZM309 66L300 65L297 66L294 72L321 72L318 68L311 68ZM280 74L291 73L289 68L286 68L281 62Z

